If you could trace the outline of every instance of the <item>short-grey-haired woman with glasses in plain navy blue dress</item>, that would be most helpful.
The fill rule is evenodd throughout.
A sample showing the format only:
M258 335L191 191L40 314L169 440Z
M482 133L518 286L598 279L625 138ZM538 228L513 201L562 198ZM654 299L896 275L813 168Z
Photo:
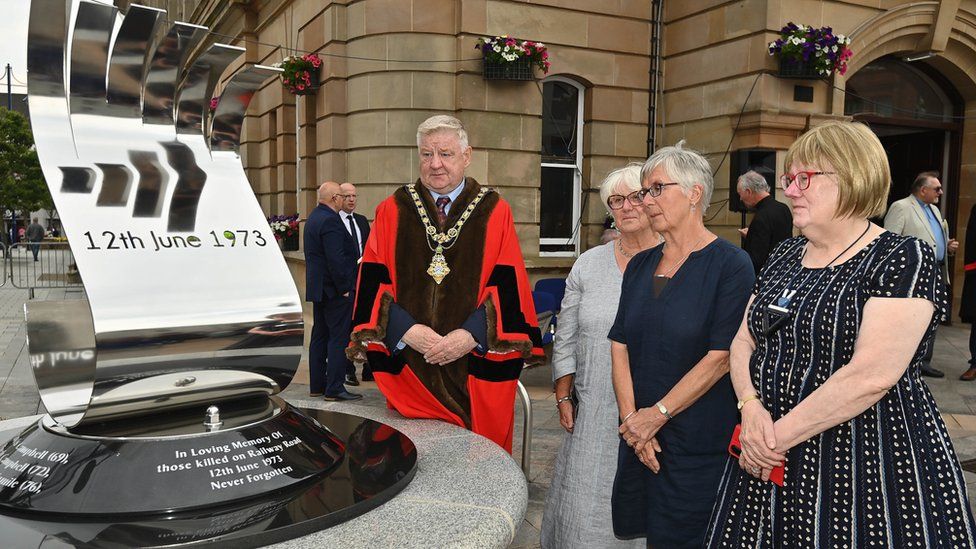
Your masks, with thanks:
M664 147L641 180L664 244L627 265L609 336L622 435L613 527L649 547L700 547L736 423L729 344L752 262L705 228L713 183L701 155Z

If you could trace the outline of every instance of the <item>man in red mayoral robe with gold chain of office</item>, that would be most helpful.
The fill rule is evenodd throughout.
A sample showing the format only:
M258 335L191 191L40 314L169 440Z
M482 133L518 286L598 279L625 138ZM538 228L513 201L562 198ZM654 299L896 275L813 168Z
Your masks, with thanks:
M376 209L348 354L369 361L390 408L511 452L519 374L544 358L512 211L465 177L456 118L424 121L417 144L420 179Z

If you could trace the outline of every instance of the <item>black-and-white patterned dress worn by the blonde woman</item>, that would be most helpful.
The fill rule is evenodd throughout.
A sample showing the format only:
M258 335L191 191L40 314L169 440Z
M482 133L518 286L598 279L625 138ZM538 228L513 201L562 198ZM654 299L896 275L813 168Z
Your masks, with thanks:
M748 311L752 382L774 421L850 361L868 299L928 299L935 318L879 402L789 451L782 488L730 459L706 546L976 547L962 471L919 371L948 307L931 247L885 232L840 265L807 269L800 264L806 242L793 238L773 252ZM766 307L792 290L792 318L763 336Z

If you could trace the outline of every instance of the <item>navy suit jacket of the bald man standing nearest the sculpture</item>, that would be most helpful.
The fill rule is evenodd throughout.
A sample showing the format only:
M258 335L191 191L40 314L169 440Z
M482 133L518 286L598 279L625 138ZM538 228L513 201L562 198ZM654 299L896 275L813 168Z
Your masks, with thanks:
M326 301L354 290L358 257L339 214L316 206L305 222L305 300Z

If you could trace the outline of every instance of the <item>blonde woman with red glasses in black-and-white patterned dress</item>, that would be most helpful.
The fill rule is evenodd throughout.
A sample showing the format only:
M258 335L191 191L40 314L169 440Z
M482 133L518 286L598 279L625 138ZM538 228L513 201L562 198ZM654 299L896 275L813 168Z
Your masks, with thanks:
M803 233L756 281L731 348L742 414L708 547L974 547L959 462L919 365L948 310L930 246L886 232L890 173L867 126L786 154ZM769 482L786 460L782 487Z

